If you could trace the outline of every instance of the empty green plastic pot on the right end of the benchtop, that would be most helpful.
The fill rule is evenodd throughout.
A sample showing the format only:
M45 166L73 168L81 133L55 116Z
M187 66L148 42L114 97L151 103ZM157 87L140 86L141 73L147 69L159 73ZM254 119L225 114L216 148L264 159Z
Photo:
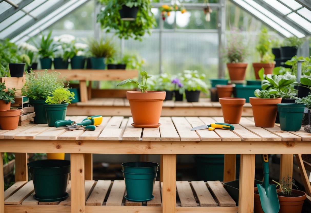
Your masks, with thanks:
M301 128L302 114L305 104L298 103L279 103L280 127L283 131L299 131Z

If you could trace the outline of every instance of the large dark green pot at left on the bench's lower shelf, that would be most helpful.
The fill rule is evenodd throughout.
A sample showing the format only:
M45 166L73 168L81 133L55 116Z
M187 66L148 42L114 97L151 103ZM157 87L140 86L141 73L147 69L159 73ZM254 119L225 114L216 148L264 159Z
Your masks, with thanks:
M70 161L40 160L28 164L37 200L59 201L66 199Z

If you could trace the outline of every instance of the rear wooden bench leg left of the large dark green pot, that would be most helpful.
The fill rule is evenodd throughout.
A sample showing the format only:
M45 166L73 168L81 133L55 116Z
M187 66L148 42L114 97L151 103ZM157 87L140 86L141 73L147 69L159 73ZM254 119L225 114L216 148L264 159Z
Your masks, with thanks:
M15 182L28 181L27 153L15 153Z

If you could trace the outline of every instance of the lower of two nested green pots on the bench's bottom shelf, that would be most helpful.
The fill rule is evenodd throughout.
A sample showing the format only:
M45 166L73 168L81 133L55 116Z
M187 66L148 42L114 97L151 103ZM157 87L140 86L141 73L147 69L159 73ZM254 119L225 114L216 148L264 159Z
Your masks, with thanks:
M123 172L127 196L129 201L144 202L153 198L152 191L154 188L157 172L147 174L134 174Z

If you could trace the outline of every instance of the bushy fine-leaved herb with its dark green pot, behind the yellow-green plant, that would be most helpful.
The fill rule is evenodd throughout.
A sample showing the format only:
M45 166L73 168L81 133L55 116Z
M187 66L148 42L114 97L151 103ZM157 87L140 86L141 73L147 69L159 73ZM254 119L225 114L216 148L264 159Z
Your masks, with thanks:
M64 87L64 78L59 78L60 73L48 70L35 72L30 70L26 75L26 83L22 88L22 95L29 97L29 102L35 107L35 124L46 124L46 112L43 104L52 92L60 87Z

